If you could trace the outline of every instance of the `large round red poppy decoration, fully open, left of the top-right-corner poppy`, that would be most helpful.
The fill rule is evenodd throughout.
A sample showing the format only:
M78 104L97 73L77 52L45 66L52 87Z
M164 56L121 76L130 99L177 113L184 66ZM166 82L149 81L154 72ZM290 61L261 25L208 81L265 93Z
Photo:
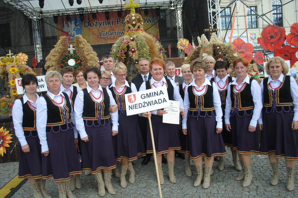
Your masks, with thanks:
M273 47L274 49L282 47L282 43L286 40L286 30L277 25L267 25L266 28L263 28L261 36L258 38L258 43L264 50L273 51Z

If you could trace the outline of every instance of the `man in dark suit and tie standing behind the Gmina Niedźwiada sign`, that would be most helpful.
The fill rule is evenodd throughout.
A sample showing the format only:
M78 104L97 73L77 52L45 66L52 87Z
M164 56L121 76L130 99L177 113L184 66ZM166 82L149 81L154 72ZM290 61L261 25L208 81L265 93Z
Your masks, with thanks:
M131 82L137 87L138 91L139 91L142 83L144 81L150 80L152 77L151 73L149 72L149 60L140 59L139 60L139 70L141 73L137 77L135 77L131 80ZM143 138L145 149L147 148L147 120L148 119L146 117L138 116L138 123L139 123L140 130L142 133L142 138ZM150 158L151 158L151 154L147 154L142 161L142 165L147 165L148 161L151 160Z

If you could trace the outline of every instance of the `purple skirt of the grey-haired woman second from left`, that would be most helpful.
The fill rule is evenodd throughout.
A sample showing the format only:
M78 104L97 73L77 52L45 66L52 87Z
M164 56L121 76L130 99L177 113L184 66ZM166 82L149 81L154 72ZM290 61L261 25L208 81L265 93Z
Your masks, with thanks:
M73 129L47 133L47 145L50 153L42 161L43 179L65 182L70 175L82 173Z

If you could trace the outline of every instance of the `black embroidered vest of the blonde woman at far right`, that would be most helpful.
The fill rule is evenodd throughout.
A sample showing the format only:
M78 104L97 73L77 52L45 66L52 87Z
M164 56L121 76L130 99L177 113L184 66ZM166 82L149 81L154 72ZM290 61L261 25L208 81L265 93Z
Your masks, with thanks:
M291 96L291 80L290 76L284 76L282 85L275 89L275 105L278 112L282 111L283 109L288 112L290 109L291 111L294 110L293 99ZM264 108L267 108L268 112L271 112L272 103L273 103L273 90L269 89L268 83L269 78L264 78L263 80L263 96L264 96Z

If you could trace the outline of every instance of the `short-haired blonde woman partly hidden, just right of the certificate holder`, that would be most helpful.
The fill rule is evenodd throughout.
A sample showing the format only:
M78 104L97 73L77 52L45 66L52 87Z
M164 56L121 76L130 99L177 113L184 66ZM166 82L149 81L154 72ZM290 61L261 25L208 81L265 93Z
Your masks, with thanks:
M184 78L184 81L182 84L179 85L179 93L181 95L181 98L184 100L184 93L187 89L187 85L193 81L193 74L190 71L190 64L184 64L181 66L181 73ZM182 118L181 118L182 120ZM185 159L185 174L188 177L192 176L192 169L190 167L190 152L189 152L189 143L188 143L188 134L184 135L182 133L182 130L179 131L179 138L181 143L181 150L178 152L184 153L184 159Z

